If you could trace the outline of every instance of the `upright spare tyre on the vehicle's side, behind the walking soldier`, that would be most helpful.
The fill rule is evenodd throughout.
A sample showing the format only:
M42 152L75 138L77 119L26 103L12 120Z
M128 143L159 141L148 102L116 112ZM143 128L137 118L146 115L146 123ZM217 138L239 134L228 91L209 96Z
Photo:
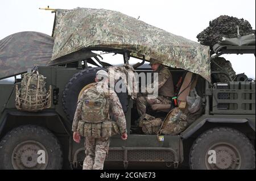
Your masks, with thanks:
M79 73L73 75L63 91L63 108L68 120L73 121L77 99L80 91L89 83L95 82L96 73L104 68L86 68ZM122 104L123 112L127 112L129 97L126 92L117 93L117 96Z

